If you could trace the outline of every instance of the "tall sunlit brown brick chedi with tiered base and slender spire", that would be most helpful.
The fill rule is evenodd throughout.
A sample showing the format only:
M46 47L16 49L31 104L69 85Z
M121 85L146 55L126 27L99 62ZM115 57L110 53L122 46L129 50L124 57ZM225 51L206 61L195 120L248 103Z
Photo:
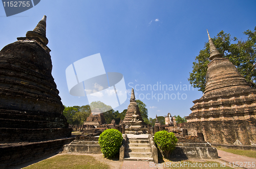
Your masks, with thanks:
M208 33L208 31L207 31ZM210 63L204 95L195 101L184 123L191 135L204 134L210 143L256 143L256 89L227 58L223 58L209 34Z

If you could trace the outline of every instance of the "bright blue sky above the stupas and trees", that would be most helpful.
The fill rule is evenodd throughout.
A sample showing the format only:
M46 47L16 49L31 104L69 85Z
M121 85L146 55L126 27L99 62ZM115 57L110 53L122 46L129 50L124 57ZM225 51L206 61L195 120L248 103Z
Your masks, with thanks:
M203 95L189 87L187 78L208 40L206 29L211 37L223 30L246 40L243 32L256 26L255 8L256 1L41 0L6 17L0 5L0 48L25 37L46 15L52 75L64 105L89 103L87 97L69 94L65 71L70 64L100 53L105 72L122 73L127 90L137 85L136 99L146 104L149 117L168 112L183 117L190 114L192 101ZM174 90L160 91L160 84ZM158 90L156 86L141 90L143 85L158 85ZM166 93L173 94L172 99L167 95L160 99ZM115 110L126 109L129 100L127 95Z

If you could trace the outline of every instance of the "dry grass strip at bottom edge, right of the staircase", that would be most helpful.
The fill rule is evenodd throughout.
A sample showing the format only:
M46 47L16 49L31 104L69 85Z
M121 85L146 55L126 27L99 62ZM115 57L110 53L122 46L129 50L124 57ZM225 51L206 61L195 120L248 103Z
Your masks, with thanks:
M171 164L170 164L171 162ZM164 162L165 163L165 167L164 165L162 164L162 166L164 168L179 168L179 169L186 169L186 168L195 168L195 169L200 169L200 168L231 168L229 166L221 166L221 163L220 162L216 162L216 161L200 161L200 162L196 162L196 161L189 161L189 160L184 160L184 161L168 161L168 164L169 166L167 166L167 162ZM224 162L223 162L224 163ZM172 166L170 166L172 165Z

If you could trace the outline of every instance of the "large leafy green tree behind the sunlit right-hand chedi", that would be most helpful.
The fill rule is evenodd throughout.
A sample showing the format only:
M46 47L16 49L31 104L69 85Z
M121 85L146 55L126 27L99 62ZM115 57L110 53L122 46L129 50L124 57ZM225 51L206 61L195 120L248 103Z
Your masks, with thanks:
M238 71L244 76L249 85L255 88L256 71L252 71L252 69L256 62L256 26L254 31L247 30L244 34L247 35L246 41L239 40L237 37L231 39L230 35L225 34L224 31L211 39L216 48L223 53L223 57L228 58L238 68ZM230 40L237 43L230 44ZM209 42L206 42L195 62L193 62L193 71L189 73L188 78L190 84L202 92L205 91L207 64L210 62L209 56Z

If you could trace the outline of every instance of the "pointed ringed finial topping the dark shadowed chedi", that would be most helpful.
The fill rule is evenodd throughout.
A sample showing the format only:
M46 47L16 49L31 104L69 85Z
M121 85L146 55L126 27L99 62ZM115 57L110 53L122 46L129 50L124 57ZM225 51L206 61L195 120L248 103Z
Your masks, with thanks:
M33 31L28 31L26 37L38 37L45 45L48 44L48 39L46 38L46 15L35 26Z

